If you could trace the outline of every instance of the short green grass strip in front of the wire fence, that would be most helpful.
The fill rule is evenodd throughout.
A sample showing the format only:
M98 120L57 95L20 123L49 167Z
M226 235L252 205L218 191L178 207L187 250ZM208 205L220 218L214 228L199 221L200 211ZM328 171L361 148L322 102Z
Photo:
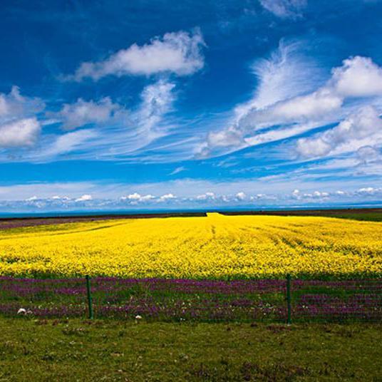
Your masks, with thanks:
M0 319L0 381L381 381L382 326Z

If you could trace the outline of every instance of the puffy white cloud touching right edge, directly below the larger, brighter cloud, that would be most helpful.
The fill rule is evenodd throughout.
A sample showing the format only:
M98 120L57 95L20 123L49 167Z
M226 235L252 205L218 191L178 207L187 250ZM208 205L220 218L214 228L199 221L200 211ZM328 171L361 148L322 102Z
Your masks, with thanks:
M296 150L304 158L329 155L335 150L353 151L361 148L365 140L373 141L373 135L382 138L382 120L375 108L366 106L349 115L335 128L312 138L299 139Z

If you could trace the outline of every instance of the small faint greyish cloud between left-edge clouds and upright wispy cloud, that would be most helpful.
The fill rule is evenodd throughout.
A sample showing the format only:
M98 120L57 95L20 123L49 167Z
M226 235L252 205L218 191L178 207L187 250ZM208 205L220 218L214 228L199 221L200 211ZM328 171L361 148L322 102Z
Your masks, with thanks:
M98 101L79 98L76 103L63 105L55 116L63 121L65 130L72 130L91 123L103 125L113 118L120 117L120 113L125 114L126 110L113 103L109 97Z

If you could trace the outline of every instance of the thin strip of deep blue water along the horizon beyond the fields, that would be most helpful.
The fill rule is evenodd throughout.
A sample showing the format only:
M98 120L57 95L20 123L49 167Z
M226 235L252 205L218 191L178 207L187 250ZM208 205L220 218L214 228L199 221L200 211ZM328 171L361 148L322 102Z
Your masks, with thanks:
M68 216L104 216L104 215L138 215L138 214L163 214L181 212L222 212L222 211L294 211L294 210L332 210L332 209L352 209L352 208L378 208L382 207L382 202L375 204L353 204L353 205L309 205L309 206L240 206L225 208L200 208L183 210L80 210L80 211L51 211L51 212L0 212L0 218L8 217L68 217Z

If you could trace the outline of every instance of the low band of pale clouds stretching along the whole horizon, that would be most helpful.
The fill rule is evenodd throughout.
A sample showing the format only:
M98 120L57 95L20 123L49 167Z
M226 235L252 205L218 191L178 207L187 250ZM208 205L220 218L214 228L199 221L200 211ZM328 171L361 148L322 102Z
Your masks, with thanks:
M36 208L47 211L69 211L89 207L93 210L120 210L125 207L134 209L139 208L144 202L150 206L158 206L158 208L168 207L168 205L176 205L177 207L200 207L203 205L212 208L252 203L256 206L313 206L321 205L323 202L327 205L335 202L351 205L357 202L367 204L382 200L381 182L360 188L359 180L354 180L352 177L338 181L327 180L320 182L320 186L327 187L321 191L317 190L316 182L309 182L305 178L301 179L301 175L291 177L289 180L288 177L290 175L232 182L185 180L141 185L78 182L0 186L0 207L3 211L20 212L32 211ZM299 188L292 191L293 185L298 185ZM118 196L121 195L121 191L131 187L137 187L139 192L133 192L126 197ZM175 197L173 193L168 192L163 193L162 197L154 197L148 193L148 190L163 192L169 189L176 190L180 196ZM251 195L254 189L259 190L259 192ZM55 195L53 194L55 190L61 195L68 195L68 197L51 197L51 195ZM202 192L202 190L209 191ZM243 191L235 192L235 190ZM272 190L277 190L277 193L269 193ZM38 197L30 197L31 195L38 195ZM82 196L78 197L78 195Z

